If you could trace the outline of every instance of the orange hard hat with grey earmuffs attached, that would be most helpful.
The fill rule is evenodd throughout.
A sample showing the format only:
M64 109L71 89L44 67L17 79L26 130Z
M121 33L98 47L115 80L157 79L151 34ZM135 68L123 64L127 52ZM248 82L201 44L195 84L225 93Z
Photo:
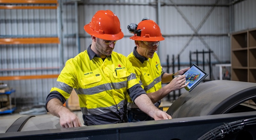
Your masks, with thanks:
M136 28L131 30L131 28ZM130 39L135 41L163 41L161 30L155 21L143 18L138 25L132 23L127 26L130 33L134 33Z

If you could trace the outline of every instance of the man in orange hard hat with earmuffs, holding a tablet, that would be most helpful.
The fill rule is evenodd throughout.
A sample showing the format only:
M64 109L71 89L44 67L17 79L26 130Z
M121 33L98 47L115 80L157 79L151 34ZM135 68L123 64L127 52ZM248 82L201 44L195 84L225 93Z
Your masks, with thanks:
M137 24L127 26L130 33L134 35L130 39L134 40L135 47L133 52L127 56L136 73L136 78L141 87L148 94L156 107L161 104L167 94L174 90L179 90L188 85L185 75L182 75L189 69L185 68L176 73L165 73L162 70L160 59L156 54L160 41L163 41L161 30L155 21L143 18ZM174 75L182 75L174 78ZM162 83L168 83L162 88ZM139 122L153 120L152 117L145 114L140 108L128 98L128 122Z

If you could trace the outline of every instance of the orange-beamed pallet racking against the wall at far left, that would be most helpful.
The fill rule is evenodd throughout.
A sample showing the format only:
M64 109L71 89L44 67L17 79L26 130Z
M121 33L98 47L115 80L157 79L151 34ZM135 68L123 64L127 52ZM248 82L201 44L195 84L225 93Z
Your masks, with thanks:
M58 1L57 0L1 0L0 9L55 9L58 10ZM26 5L17 5L17 4L26 4ZM39 4L34 5L34 4ZM41 5L40 5L41 4ZM44 4L52 4L52 5L44 5ZM0 45L12 45L12 44L60 44L61 37L28 37L28 38L0 38ZM60 44L62 45L62 44ZM59 48L61 48L60 46ZM60 56L62 57L62 56ZM62 63L62 62L60 62ZM62 67L62 65L60 66ZM36 68L36 69L60 69L60 67L54 68ZM26 70L35 69L35 68L26 68ZM4 70L4 69L2 69ZM11 69L8 69L11 70ZM17 69L15 69L17 70ZM24 69L18 69L24 70ZM24 79L40 79L40 78L57 78L58 74L53 75L28 75L28 76L6 76L0 77L0 80L24 80Z

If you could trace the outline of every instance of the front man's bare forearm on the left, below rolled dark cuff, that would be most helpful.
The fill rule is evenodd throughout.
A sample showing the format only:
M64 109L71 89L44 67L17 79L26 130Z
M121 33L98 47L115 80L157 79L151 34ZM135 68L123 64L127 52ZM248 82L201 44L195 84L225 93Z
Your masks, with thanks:
M48 101L47 110L54 116L57 116L60 118L61 114L64 112L71 112L67 107L64 107L59 99L53 98Z

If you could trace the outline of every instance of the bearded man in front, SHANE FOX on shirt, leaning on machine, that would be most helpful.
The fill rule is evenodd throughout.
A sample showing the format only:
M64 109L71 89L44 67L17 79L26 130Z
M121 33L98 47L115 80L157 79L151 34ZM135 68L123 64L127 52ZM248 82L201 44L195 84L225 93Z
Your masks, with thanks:
M63 106L73 88L84 125L127 122L127 96L155 120L170 119L141 88L129 60L113 51L116 41L124 37L117 16L110 10L97 11L84 30L92 44L66 62L46 99L46 110L60 117L61 127L81 126L76 114Z

